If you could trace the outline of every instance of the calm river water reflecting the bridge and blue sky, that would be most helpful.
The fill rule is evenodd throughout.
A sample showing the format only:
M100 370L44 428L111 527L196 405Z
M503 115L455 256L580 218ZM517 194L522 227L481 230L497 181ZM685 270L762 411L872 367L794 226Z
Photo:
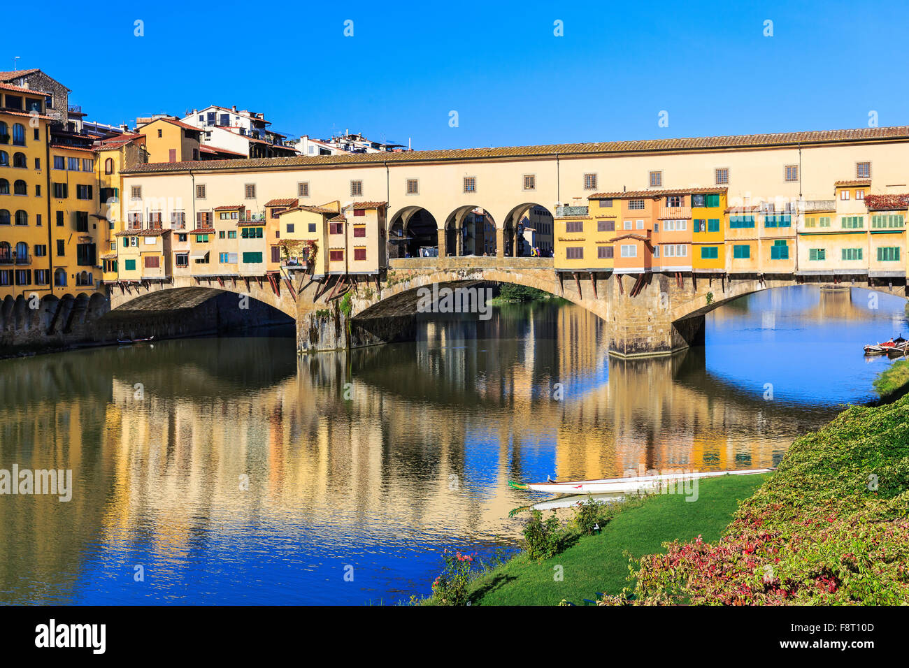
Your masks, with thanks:
M0 603L427 594L444 547L514 545L531 497L509 479L776 464L873 396L889 362L862 344L909 335L878 300L755 294L708 315L704 348L646 361L540 302L350 356L298 360L275 332L0 362L0 469L74 476L68 503L0 496Z

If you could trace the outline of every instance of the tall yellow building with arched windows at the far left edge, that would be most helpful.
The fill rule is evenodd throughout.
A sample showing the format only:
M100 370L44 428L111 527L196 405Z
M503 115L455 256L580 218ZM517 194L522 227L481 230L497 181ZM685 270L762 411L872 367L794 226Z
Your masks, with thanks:
M51 290L45 96L0 84L0 300Z

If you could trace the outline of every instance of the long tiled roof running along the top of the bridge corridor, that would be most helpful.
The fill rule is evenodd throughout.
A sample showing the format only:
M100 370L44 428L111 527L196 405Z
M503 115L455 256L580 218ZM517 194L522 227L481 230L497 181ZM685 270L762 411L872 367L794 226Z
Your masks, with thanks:
M846 130L773 133L766 135L727 135L643 141L598 142L589 144L554 144L534 146L500 146L487 148L445 149L440 151L401 151L399 153L366 153L354 155L294 155L276 158L209 161L207 169L286 169L332 165L383 165L421 161L484 160L527 156L555 155L622 155L640 153L705 152L762 147L824 145L880 141L909 142L909 125L863 127ZM136 165L130 174L147 172L185 172L199 169L198 162Z

